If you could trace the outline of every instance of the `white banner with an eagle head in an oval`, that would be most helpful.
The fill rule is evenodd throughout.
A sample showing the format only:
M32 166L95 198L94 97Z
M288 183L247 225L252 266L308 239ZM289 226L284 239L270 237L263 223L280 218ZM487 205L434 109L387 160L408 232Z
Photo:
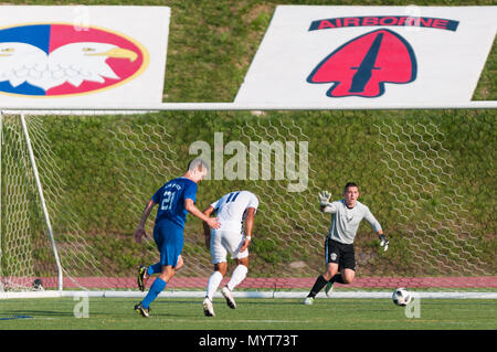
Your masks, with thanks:
M168 7L0 7L0 103L162 102Z

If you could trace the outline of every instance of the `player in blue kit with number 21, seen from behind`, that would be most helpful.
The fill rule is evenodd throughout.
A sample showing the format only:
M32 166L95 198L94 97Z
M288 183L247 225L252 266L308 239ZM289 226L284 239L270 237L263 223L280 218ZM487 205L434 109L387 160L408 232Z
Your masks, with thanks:
M204 215L195 205L197 183L202 181L208 172L208 166L201 159L194 159L188 166L188 171L182 178L173 179L163 184L148 201L141 214L138 228L135 232L135 241L141 242L147 236L145 223L152 207L159 204L156 224L154 227L154 241L160 253L158 263L145 267L138 273L138 287L145 289L145 280L152 274L159 274L154 281L145 299L135 306L135 310L148 318L150 303L166 288L167 282L175 276L176 270L182 264L181 250L183 248L183 230L187 214L190 213L212 228L218 228L220 223L215 217Z

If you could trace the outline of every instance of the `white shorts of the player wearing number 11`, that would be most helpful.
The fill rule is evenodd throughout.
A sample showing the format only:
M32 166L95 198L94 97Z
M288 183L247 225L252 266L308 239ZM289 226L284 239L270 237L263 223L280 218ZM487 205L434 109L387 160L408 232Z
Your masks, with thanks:
M248 248L240 253L245 237L241 233L230 231L211 231L212 264L228 262L228 253L232 259L243 259L248 256Z

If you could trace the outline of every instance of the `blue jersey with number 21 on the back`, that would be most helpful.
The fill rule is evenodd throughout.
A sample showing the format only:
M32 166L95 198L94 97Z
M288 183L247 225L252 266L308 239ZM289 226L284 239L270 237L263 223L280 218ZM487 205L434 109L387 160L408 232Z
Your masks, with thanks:
M188 211L184 209L184 200L195 202L197 183L187 178L178 178L162 185L151 198L159 204L156 224L161 220L169 220L184 228Z

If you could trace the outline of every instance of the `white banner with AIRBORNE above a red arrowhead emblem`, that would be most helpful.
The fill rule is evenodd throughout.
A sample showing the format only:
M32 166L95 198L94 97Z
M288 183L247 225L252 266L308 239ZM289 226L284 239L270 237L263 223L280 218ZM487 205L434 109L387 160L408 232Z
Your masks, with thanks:
M497 7L279 6L235 103L470 102L496 30Z

